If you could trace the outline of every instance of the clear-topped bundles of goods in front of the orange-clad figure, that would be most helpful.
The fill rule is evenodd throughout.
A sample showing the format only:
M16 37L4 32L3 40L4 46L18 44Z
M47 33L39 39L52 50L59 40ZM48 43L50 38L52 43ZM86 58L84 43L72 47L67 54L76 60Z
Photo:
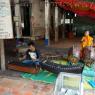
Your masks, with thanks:
M70 48L68 61L72 64L77 64L80 60L90 67L95 60L95 49L93 47L86 47L82 50L79 47Z

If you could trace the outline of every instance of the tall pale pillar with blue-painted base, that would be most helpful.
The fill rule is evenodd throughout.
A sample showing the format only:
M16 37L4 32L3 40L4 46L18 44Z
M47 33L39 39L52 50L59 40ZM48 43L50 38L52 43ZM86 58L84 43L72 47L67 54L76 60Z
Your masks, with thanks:
M50 3L45 0L45 45L50 45Z

